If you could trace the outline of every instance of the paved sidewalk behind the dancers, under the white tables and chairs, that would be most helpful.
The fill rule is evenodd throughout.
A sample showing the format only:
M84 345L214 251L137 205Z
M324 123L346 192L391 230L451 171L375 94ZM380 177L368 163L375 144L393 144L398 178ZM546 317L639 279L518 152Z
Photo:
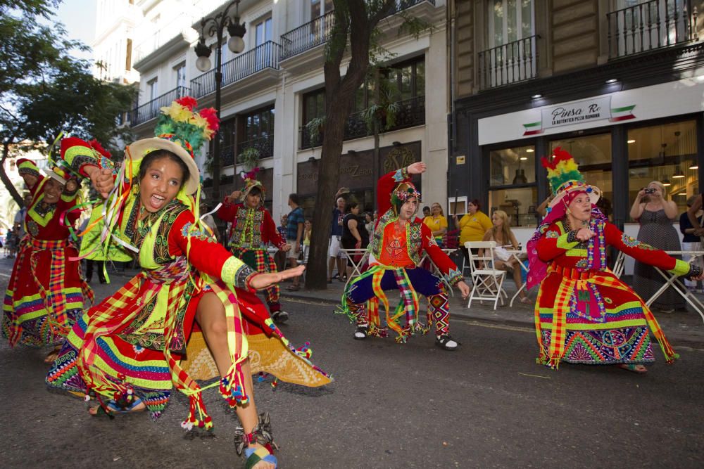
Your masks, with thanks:
M296 292L292 292L286 289L287 285L290 283L281 284L281 296L284 309L286 308L287 298L295 298L298 300L308 300L312 302L325 302L331 305L339 304L342 292L344 290L344 283L334 280L333 283L327 285L327 290L306 290L301 288ZM506 293L508 293L508 300L513 297L516 293L516 287L513 282L505 282L504 287ZM535 300L537 295L537 288L534 288L529 297L531 300ZM460 292L457 288L454 290L455 296L450 297L450 314L455 317L462 317L465 319L470 319L472 321L484 321L491 323L500 323L510 326L522 326L527 328L534 328L534 314L533 309L535 307L534 303L521 303L517 299L513 302L513 307L508 306L508 301L505 304L498 303L496 311L494 311L493 304L489 302L480 302L474 300L472 302L472 307L467 308L467 300L463 300L460 297ZM704 300L704 297L700 297ZM393 299L389 297L391 304L393 305ZM423 302L421 301L421 307L425 311ZM696 349L704 348L704 321L702 321L701 316L689 307L689 311L675 311L674 313L666 314L659 311L653 311L655 317L658 319L662 330L665 330L665 335L667 339L670 340L672 345L684 345L686 347L693 347ZM425 313L424 313L425 314Z

